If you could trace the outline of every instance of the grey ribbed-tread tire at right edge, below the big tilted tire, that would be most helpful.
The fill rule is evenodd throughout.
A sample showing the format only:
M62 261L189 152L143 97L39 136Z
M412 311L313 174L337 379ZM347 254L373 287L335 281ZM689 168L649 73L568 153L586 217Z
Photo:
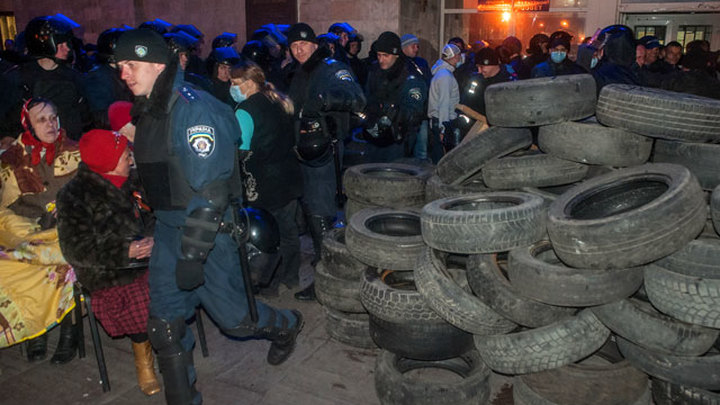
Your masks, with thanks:
M648 265L645 290L660 312L695 325L720 328L720 274L697 277Z

